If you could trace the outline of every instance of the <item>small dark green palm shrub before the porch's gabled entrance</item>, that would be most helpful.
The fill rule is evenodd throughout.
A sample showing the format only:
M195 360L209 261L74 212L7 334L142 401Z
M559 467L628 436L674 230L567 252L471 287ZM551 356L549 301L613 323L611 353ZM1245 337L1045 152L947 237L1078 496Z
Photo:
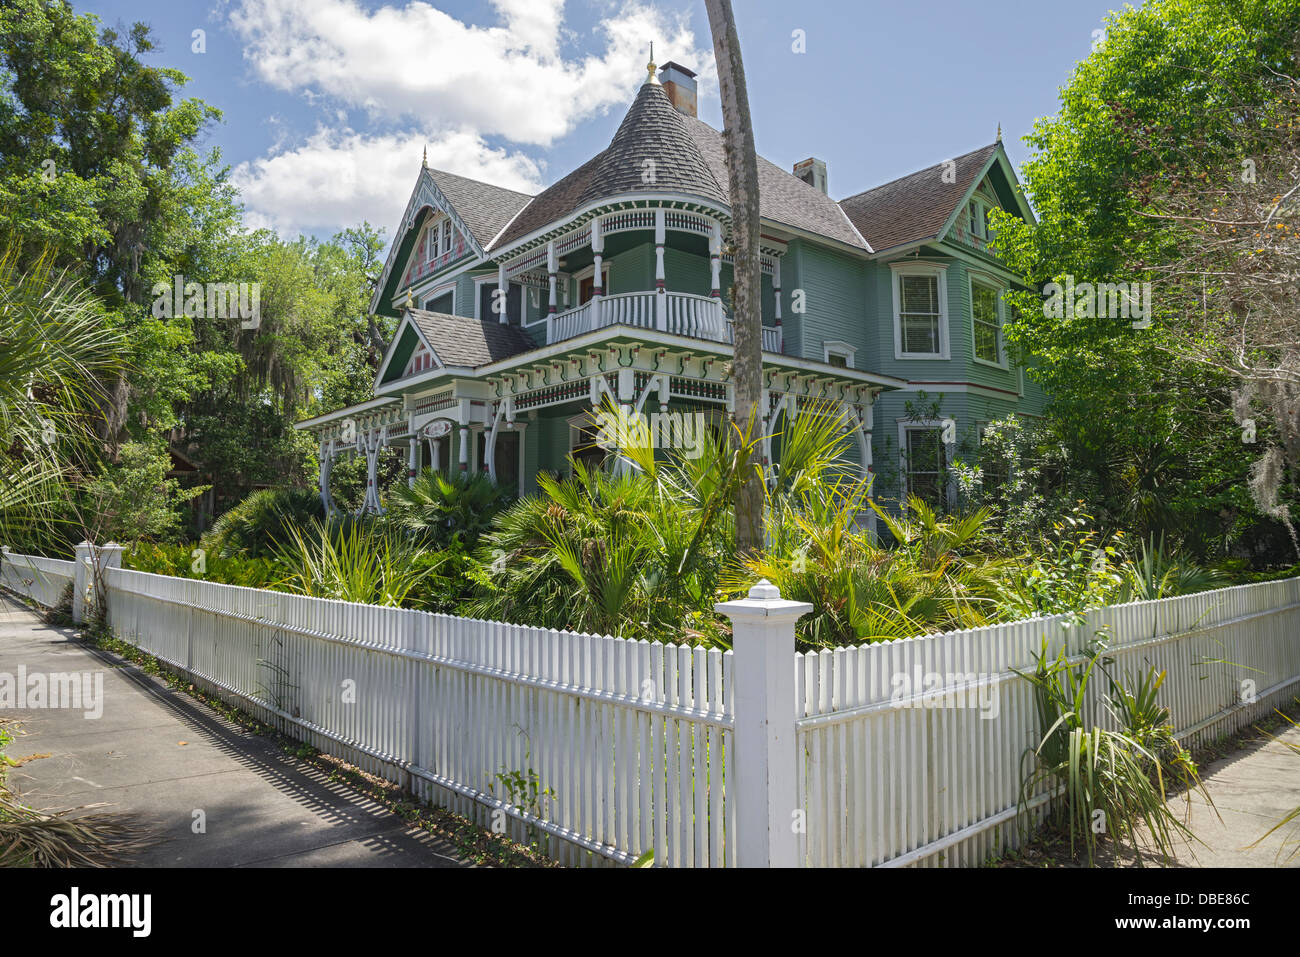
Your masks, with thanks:
M448 478L425 469L410 486L393 488L389 520L434 549L454 542L473 549L510 498L511 493L484 472L459 472Z

